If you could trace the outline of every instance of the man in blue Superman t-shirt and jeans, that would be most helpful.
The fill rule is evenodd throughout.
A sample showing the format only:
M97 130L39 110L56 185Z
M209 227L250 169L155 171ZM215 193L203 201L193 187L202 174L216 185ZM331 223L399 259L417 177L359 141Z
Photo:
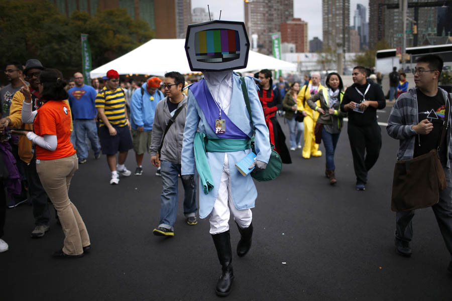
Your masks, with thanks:
M96 90L93 87L85 85L83 82L83 74L76 72L74 74L75 87L69 89L69 105L74 118L76 149L78 163L83 164L88 158L88 144L86 144L86 136L91 141L91 148L94 152L94 159L100 156L99 138L97 137L95 106Z

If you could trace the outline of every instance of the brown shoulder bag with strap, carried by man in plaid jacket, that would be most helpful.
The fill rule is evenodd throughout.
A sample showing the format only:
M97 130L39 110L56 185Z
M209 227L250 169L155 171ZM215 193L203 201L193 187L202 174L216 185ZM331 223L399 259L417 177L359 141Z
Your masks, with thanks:
M439 192L447 187L444 170L439 161L439 150L447 132L449 110L450 100L446 104L447 120L443 122L436 149L411 160L396 162L392 182L392 211L420 209L438 203Z

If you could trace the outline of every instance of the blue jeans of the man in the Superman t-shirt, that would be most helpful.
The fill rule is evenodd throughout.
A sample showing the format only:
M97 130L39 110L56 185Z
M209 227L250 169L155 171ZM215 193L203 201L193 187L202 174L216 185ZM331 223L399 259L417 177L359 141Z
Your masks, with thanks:
M91 142L91 148L94 156L100 153L99 138L97 137L97 126L94 119L74 119L75 138L77 145L78 160L88 158L88 144L86 143L86 136Z

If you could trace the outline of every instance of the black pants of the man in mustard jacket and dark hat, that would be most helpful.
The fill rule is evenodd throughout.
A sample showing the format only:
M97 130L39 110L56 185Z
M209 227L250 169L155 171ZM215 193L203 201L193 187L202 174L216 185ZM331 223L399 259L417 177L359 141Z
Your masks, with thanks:
M36 158L33 156L29 165L25 165L25 176L27 177L30 198L33 204L33 216L35 225L48 225L50 220L49 198L47 197L41 180L36 172Z

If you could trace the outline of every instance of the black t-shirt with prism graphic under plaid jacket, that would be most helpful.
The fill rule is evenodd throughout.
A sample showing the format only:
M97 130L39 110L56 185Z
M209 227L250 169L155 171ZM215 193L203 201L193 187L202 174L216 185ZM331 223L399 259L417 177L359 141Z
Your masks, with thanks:
M442 130L442 122L444 121L445 102L442 93L438 91L435 96L427 96L419 89L417 93L417 112L419 122L428 119L433 123L433 130L427 135L416 135L414 142L414 158L427 154L430 150L438 146L439 138ZM444 139L441 145L439 158L441 164L446 165L447 162L447 145Z

